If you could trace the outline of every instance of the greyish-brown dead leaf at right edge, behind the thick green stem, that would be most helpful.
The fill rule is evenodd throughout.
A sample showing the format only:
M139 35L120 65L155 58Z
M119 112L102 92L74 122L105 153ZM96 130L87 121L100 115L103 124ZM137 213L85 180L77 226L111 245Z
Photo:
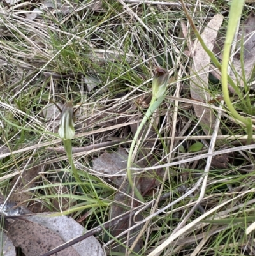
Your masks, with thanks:
M240 45L241 38L244 38L244 45ZM255 64L255 15L252 12L248 19L245 20L244 25L240 27L237 40L239 43L237 47L243 47L244 50L244 72L245 80L252 82L254 80L254 64ZM233 66L235 67L235 73L233 70L230 72L231 78L244 86L244 80L242 79L242 64L240 61L240 51L233 57Z

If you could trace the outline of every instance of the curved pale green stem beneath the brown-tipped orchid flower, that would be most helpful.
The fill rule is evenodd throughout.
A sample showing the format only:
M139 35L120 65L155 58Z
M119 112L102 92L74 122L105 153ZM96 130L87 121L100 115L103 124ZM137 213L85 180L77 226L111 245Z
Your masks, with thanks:
M138 136L139 136L140 132L142 131L142 128L143 128L144 124L147 122L147 120L149 120L150 116L152 116L152 114L159 107L161 102L163 102L163 100L164 100L164 96L162 96L162 97L160 97L158 99L156 99L155 97L152 97L152 100L150 102L150 107L147 110L147 112L145 113L145 116L143 117L142 122L138 126L138 129L136 130L136 133L135 133L135 136L133 138L131 147L129 149L128 167L127 167L128 181L129 181L129 184L130 184L131 188L134 188L135 196L141 202L144 202L144 199L143 199L141 193L139 192L139 190L134 186L132 175L131 175L131 165L132 165L133 160L135 158L135 156L133 156L133 151L134 151L134 148L135 148L135 144L136 144L136 142L138 140Z

